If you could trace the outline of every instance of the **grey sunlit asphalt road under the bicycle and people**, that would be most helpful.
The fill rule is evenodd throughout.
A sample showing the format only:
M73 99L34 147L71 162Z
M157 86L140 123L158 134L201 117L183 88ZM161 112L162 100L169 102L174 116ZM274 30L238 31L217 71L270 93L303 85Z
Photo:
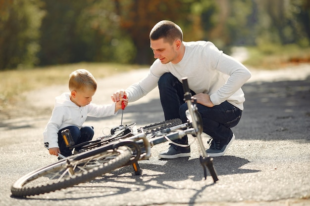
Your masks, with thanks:
M13 182L56 161L43 147L42 132L54 96L67 88L59 85L31 91L25 94L28 99L24 111L17 111L18 117L0 120L0 206L309 206L309 67L253 72L260 78L243 86L245 110L233 128L236 140L225 156L214 158L216 184L210 176L204 180L199 146L190 137L190 158L160 160L158 153L167 148L163 143L152 148L150 160L139 162L142 175L134 175L131 166L126 166L72 188L18 199L11 197ZM146 74L147 70L138 70L98 80L93 102L109 103L112 92ZM104 127L119 125L120 116L89 118L86 124L93 125L99 136ZM156 89L124 112L124 123L143 126L160 121L163 113ZM207 136L204 142L207 145Z

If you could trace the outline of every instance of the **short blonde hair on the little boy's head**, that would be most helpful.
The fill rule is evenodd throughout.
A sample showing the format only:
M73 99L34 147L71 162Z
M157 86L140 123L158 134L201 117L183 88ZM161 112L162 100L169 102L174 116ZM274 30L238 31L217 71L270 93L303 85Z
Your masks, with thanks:
M79 69L72 72L69 76L69 89L73 90L84 90L85 88L93 89L96 91L97 82L94 76L85 69Z

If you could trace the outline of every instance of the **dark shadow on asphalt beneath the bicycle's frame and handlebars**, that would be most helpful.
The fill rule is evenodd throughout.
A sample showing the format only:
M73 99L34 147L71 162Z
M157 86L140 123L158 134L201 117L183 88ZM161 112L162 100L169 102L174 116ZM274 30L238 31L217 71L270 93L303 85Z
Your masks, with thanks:
M191 159L188 158L178 158L172 160L164 160L160 159L159 161L164 161L163 165L153 164L153 161L140 161L139 165L142 170L148 169L147 174L143 173L142 175L135 175L134 170L131 165L122 167L117 169L116 171L112 171L109 175L103 175L96 180L92 180L92 183L120 183L120 184L128 184L128 173L132 175L132 181L130 181L131 187L139 187L144 188L143 190L150 189L178 189L177 187L173 187L167 183L167 181L186 181L191 179L192 181L201 181L204 178L203 167L200 165L199 159ZM227 161L230 164L227 164ZM229 175L229 174L240 174L240 173L252 173L258 172L259 170L251 170L251 169L242 169L241 166L249 163L248 160L234 157L234 156L224 156L220 158L216 158L214 166L217 168L217 174L221 175ZM123 174L126 175L126 178L123 177ZM130 174L129 174L130 175ZM209 172L207 174L207 179L211 179ZM130 177L129 177L130 178ZM124 181L122 181L122 179ZM152 182L152 183L151 183ZM155 182L155 184L154 184ZM213 185L213 183L207 184L204 186L205 189L208 186ZM104 186L103 186L104 187ZM113 187L114 188L114 187ZM116 190L121 190L122 193L129 192L130 190L124 188L116 187ZM110 195L110 194L107 194Z

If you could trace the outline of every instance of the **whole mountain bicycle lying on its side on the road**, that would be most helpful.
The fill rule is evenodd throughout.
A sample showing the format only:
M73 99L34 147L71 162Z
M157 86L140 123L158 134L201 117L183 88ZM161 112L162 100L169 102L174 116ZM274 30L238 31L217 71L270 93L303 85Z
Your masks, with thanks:
M26 197L64 189L126 165L132 165L135 174L139 175L141 169L138 161L151 157L152 146L166 141L172 143L173 140L187 134L197 137L203 154L200 156L200 163L204 168L205 179L208 169L215 183L218 178L213 167L213 159L207 155L201 138L202 119L197 111L196 101L190 93L187 79L184 78L182 82L184 99L188 105L187 123L183 124L180 119L174 119L139 129L135 124L120 125L112 128L107 136L79 145L74 145L69 131L64 130L62 135L67 146L82 147L80 153L43 166L19 178L11 187L12 196Z

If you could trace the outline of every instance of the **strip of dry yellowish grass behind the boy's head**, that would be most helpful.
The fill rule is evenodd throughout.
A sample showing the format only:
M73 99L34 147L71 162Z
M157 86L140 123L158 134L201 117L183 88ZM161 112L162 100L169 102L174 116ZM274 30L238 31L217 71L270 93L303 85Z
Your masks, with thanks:
M9 109L22 100L23 92L46 86L67 84L71 72L77 69L90 71L95 79L101 79L118 72L146 68L141 65L113 63L78 63L37 67L33 69L8 70L0 72L0 112Z

